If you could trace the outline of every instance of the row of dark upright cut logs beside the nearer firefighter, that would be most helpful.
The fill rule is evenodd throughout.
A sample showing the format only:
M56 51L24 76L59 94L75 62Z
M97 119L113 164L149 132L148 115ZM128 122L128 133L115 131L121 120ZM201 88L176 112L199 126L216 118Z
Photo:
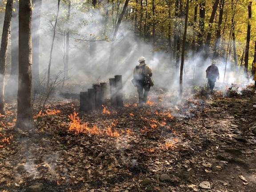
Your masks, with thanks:
M93 84L87 92L80 92L80 111L92 111L102 108L107 104L107 83ZM109 79L109 89L112 107L123 106L122 76Z

